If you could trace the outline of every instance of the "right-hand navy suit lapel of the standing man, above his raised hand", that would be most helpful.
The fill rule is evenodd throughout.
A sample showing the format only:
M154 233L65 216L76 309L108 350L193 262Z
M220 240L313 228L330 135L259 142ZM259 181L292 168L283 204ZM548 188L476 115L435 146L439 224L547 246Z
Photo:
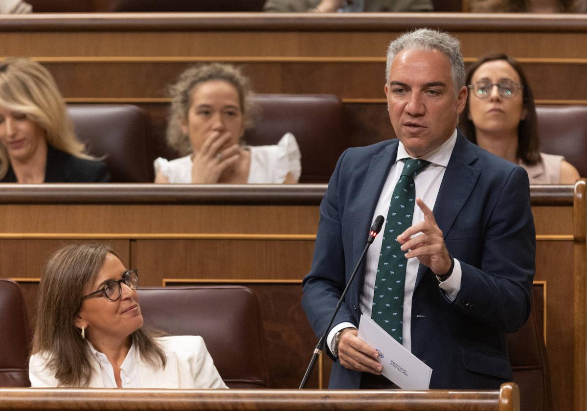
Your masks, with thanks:
M472 147L472 143L469 143L463 134L458 133L457 142L438 190L433 213L444 238L453 226L458 213L463 209L481 174L481 169L472 164L477 159L477 155L471 150ZM420 264L416 287L427 268Z

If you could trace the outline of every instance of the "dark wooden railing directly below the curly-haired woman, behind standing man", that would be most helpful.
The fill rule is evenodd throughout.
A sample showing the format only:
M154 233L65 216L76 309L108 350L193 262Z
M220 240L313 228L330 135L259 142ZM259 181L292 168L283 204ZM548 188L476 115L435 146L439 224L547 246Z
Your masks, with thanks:
M0 204L318 206L328 184L0 184ZM530 186L532 206L572 206L569 185Z

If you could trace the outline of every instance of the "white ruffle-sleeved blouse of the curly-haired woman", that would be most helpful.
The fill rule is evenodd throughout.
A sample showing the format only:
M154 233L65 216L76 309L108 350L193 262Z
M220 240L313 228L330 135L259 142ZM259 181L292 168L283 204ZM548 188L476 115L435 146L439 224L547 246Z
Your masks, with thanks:
M245 146L251 151L251 167L247 183L281 184L288 173L299 180L302 174L301 153L294 134L285 133L275 146ZM155 174L163 174L170 183L191 183L191 156L168 161L154 161Z

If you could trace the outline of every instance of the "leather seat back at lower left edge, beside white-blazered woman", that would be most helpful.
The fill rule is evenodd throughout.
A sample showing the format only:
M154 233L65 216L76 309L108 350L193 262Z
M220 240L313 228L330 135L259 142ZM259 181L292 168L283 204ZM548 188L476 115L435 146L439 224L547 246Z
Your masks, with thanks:
M0 387L30 387L25 303L21 287L5 278L0 278L0 330Z

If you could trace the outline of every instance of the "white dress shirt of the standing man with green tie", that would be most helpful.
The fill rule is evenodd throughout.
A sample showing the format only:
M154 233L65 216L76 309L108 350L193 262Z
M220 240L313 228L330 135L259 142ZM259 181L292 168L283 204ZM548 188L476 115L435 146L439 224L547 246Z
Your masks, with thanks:
M424 203L434 210L434 204L436 204L436 197L440 190L440 184L444 177L444 171L448 165L448 160L453 153L454 144L457 142L457 130L455 129L451 137L441 144L435 150L426 153L420 159L430 161L430 165L421 171L414 178L416 184L416 198L421 198ZM379 196L379 201L375 207L375 213L373 213L372 221L375 221L377 215L383 215L387 217L387 210L389 210L389 204L392 199L393 190L396 187L397 181L402 175L403 163L405 159L411 158L407 153L406 148L399 143L397 147L396 162L387 175L385 184ZM417 205L414 206L412 225L424 221L424 213L420 210ZM377 277L377 266L379 265L379 254L381 252L381 245L383 241L383 233L385 233L385 226L380 231L380 235L375 237L373 244L371 244L367 251L365 261L365 280L363 282L363 290L360 295L360 309L362 314L371 316L373 308L373 291L375 290L375 279ZM401 233L398 233L401 234ZM416 234L419 235L419 234ZM413 236L414 237L414 236ZM407 251L406 251L407 252ZM450 250L448 250L450 252ZM404 302L403 302L403 320L402 320L402 344L409 351L411 351L411 299L414 294L414 287L416 285L416 275L420 261L414 257L409 258L406 265L406 281L404 283ZM461 265L458 260L454 260L453 274L448 277L446 281L441 282L438 287L443 289L448 299L453 301L461 288ZM356 326L350 322L342 322L334 326L328 333L328 347L330 352L334 350L334 336L336 332L343 328Z

